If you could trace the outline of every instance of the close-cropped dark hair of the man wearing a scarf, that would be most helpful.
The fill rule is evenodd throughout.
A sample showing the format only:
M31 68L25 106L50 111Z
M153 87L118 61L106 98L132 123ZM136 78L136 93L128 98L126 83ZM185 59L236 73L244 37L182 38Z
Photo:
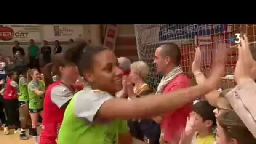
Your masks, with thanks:
M181 62L181 50L175 43L165 43L160 46L161 55L168 56L173 64L178 66Z

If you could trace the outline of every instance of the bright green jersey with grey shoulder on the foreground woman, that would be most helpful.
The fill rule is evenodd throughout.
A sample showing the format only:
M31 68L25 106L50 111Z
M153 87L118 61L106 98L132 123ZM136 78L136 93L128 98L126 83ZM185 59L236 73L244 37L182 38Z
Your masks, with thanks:
M101 104L109 93L85 89L76 93L64 114L58 144L118 144L118 135L129 133L126 120L99 120Z

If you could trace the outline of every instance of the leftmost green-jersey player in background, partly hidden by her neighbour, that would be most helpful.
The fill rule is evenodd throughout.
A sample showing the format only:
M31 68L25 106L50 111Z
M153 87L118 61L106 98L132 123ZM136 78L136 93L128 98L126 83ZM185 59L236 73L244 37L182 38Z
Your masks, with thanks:
M29 94L27 91L27 69L24 70L22 76L19 78L19 107L22 121L21 121L21 139L28 139L25 133L27 123L29 120Z

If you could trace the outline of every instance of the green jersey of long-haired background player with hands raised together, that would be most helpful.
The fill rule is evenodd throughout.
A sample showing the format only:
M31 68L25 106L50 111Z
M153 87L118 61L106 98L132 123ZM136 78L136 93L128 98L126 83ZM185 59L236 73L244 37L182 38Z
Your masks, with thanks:
M37 94L35 94L36 89L39 91L45 91L45 85L41 80L38 82L30 81L27 85L29 93L29 109L43 108L43 96L37 96Z

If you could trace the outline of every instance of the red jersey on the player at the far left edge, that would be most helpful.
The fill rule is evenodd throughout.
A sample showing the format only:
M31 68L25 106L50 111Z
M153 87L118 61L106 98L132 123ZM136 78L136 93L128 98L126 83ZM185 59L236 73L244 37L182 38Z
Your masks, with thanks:
M4 93L4 96L3 98L4 99L8 99L8 100L15 100L15 99L18 99L18 93L17 93L17 90L15 87L13 87L11 85L11 82L13 80L11 79L8 79L7 82L6 82L6 87L5 87L5 93ZM14 81L13 81L14 82ZM14 82L15 83L15 82Z

